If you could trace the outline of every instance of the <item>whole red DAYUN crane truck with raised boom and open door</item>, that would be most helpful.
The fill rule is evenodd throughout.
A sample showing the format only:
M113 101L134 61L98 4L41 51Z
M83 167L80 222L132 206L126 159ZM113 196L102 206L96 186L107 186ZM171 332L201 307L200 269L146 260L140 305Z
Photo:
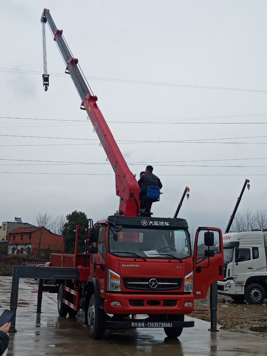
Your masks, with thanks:
M194 321L184 321L184 314L193 312L194 299L205 298L213 282L223 281L221 230L199 227L193 255L185 219L140 213L136 178L78 69L78 59L73 58L48 9L43 10L41 22L43 26L47 22L54 34L66 73L82 100L80 108L86 110L114 170L120 197L114 215L95 224L88 219L84 228L77 225L74 254L52 253L49 268L77 267L79 271L78 279L55 280L58 313L75 316L83 309L95 339L106 329L127 328L164 328L167 336L178 337L184 327L194 326ZM81 233L84 249L78 253Z

